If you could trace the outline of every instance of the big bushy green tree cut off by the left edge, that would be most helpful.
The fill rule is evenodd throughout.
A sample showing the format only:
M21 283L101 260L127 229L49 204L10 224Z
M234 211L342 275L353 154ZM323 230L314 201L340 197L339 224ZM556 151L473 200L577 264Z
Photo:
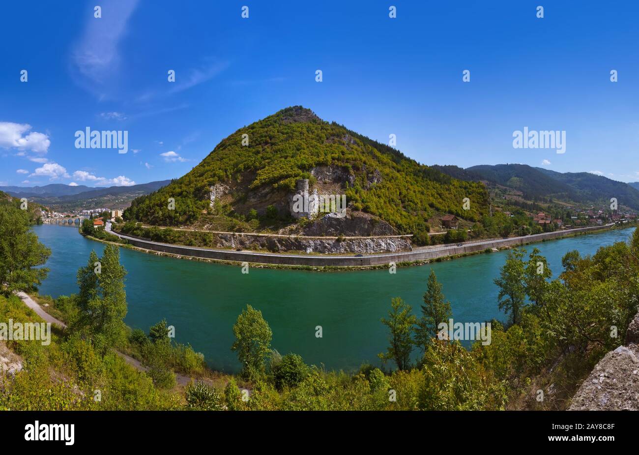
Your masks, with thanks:
M50 254L29 231L25 210L0 205L0 289L6 294L35 289L49 273L48 268L35 267L47 262Z

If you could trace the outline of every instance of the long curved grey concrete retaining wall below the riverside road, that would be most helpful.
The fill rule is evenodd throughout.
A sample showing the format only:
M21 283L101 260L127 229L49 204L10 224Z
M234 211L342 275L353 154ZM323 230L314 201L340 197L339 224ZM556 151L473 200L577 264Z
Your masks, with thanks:
M397 252L389 254L371 254L357 258L355 256L302 256L295 254L274 254L274 253L258 253L244 251L227 251L213 250L197 247L186 247L182 245L169 245L167 243L151 242L141 238L135 238L128 235L122 235L111 231L112 234L128 240L128 243L135 247L149 249L153 251L162 251L172 254L180 254L181 256L194 256L196 258L219 259L223 261L252 262L262 264L277 265L302 265L302 266L370 266L370 265L387 265L390 262L412 262L424 259L442 258L443 256L452 256L455 254L465 254L470 252L483 251L486 248L496 248L505 246L523 245L523 243L538 242L540 240L550 240L560 238L579 232L587 232L595 229L611 227L613 224L606 226L590 226L580 227L577 229L568 229L566 231L548 232L542 234L528 235L523 237L513 237L500 240L488 240L483 242L465 242L461 246L436 246L426 247L410 252Z

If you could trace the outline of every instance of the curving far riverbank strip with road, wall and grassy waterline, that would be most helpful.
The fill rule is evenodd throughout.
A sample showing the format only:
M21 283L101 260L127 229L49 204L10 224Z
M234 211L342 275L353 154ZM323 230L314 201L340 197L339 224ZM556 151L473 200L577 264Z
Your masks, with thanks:
M531 243L546 242L547 240L568 238L590 233L600 233L611 229L627 229L635 226L636 223L580 227L576 229L567 229L565 231L553 231L550 233L541 233L529 236L489 239L480 242L470 241L461 243L461 245L459 246L436 245L431 247L413 249L413 251L410 252L371 254L367 256L304 256L293 254L230 251L206 249L200 247L187 247L186 245L152 242L151 240L146 240L144 238L123 235L116 231L112 231L109 224L107 224L107 232L127 242L126 245L123 245L122 243L115 243L116 245L125 246L127 248L134 249L135 251L147 252L158 256L167 256L177 259L189 259L212 263L223 263L233 266L248 264L250 267L254 268L332 272L339 270L375 270L380 268L386 269L392 265L395 265L396 267L424 265L433 261L463 258L466 256L473 256L475 254L481 254L484 252L493 252L499 251L500 249L508 249L511 247L521 247L524 245L529 245ZM98 242L114 243L91 236L87 237Z

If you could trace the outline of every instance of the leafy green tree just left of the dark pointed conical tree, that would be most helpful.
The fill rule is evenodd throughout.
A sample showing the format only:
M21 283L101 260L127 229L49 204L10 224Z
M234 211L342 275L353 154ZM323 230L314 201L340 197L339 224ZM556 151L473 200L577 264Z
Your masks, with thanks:
M397 364L397 369L405 370L410 366L410 353L413 350L413 339L410 334L417 320L411 314L413 309L410 305L399 297L390 301L390 307L389 319L381 318L381 323L390 330L390 346L385 353L380 353L378 357L383 362L392 359Z

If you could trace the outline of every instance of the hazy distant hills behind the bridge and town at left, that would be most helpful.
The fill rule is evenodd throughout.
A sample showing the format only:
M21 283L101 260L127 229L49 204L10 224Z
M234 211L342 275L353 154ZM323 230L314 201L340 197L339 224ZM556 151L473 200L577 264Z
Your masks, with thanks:
M43 187L0 187L0 191L13 197L26 197L53 210L68 211L80 208L126 208L135 197L150 194L169 183L171 180L160 180L130 187L108 188L52 183Z

